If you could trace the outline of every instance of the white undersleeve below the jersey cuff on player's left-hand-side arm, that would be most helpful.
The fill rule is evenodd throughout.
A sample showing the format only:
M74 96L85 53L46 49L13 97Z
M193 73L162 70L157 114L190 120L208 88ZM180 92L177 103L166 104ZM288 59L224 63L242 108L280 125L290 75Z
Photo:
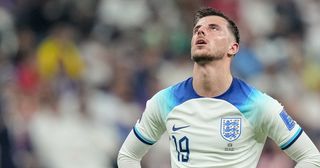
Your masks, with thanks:
M141 142L132 130L119 151L118 167L141 168L140 161L150 147L151 145Z

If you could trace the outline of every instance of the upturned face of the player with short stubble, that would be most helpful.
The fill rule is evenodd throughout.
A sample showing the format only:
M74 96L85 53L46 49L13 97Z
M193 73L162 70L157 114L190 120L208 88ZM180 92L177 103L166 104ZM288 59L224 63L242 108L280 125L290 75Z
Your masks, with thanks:
M193 28L191 58L195 62L223 59L233 42L228 22L224 18L203 17Z

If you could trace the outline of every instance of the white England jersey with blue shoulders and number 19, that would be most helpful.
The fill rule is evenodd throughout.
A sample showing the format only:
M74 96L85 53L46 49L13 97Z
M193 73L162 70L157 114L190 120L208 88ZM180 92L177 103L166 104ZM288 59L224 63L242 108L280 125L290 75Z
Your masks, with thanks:
M167 131L173 168L256 167L267 137L282 150L302 133L270 96L233 78L220 96L199 96L193 78L153 96L133 128L152 145Z

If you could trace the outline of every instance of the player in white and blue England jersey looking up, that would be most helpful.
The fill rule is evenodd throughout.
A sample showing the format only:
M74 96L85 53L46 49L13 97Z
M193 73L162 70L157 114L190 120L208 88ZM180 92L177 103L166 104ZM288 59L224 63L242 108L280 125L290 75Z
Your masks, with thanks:
M296 167L320 167L320 154L275 99L232 76L239 31L223 13L196 13L193 77L155 94L118 155L120 168L140 160L160 136L170 138L173 168L252 168L270 137Z

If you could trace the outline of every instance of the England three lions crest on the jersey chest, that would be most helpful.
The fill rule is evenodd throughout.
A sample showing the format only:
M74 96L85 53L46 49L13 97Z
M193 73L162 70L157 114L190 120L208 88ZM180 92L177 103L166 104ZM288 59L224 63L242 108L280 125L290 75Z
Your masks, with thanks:
M241 135L241 118L222 118L220 134L229 142L238 139Z

